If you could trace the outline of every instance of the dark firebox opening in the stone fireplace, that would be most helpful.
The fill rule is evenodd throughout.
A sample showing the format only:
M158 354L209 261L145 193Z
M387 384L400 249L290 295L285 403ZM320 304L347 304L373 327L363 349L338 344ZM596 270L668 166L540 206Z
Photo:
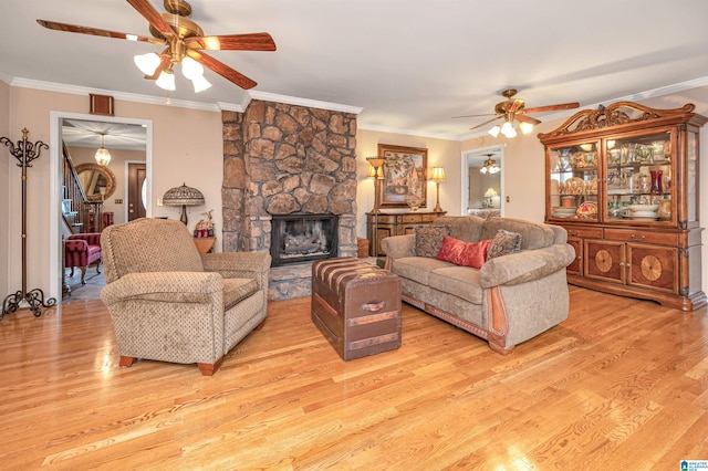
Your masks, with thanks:
M337 257L335 214L273 216L271 266Z

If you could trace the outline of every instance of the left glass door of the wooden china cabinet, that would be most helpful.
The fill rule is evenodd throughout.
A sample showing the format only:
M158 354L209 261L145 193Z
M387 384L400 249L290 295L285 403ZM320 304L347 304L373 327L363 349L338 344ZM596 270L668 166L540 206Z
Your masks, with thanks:
M597 221L597 142L550 151L550 217Z

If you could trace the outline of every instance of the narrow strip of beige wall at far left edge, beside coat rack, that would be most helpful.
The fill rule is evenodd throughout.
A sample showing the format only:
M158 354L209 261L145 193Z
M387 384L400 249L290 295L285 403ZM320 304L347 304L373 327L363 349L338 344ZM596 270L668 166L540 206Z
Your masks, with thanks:
M13 138L10 135L10 85L0 80L0 137ZM14 142L14 140L13 140ZM10 156L6 146L0 146L0 201L10 201L10 166L14 160L14 157ZM0 203L0 296L6 296L10 293L10 234L17 233L20 237L19 231L12 232L12 228L7 221L10 219L10 205ZM4 297L3 297L4 299Z

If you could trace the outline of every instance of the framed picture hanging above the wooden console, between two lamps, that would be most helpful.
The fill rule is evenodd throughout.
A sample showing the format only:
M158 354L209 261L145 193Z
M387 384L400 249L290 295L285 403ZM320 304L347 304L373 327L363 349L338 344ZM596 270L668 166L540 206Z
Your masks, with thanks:
M419 208L425 208L428 149L379 144L378 155L386 158L381 207L406 208L415 199Z

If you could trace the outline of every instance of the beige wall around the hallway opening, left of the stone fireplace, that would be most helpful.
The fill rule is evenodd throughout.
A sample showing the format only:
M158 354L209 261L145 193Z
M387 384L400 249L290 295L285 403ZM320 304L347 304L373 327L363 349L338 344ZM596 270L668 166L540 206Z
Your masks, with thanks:
M32 88L11 87L9 106L9 134L13 137L27 127L32 142L41 139L50 143L50 113L88 112L88 96L38 91ZM189 211L190 229L200 219L201 212L214 209L217 230L221 227L221 181L223 153L221 138L221 114L186 109L163 105L149 105L134 102L116 101L116 117L146 119L153 123L153 179L152 203L153 216L179 218L179 210L173 207L157 207L158 196L169 188L186 182L200 189L207 203ZM50 279L56 280L61 273L48 270L52 243L50 234L50 213L58 208L50 208L50 159L59 158L56 149L50 149L33 163L28 178L28 289L40 287L48 295ZM8 226L18 228L21 219L20 169L10 168L9 207L11 213L6 217ZM3 221L3 222L4 222ZM4 223L2 224L7 227ZM14 232L13 232L14 233ZM59 242L55 242L59 244ZM217 249L220 250L220 240ZM56 251L59 248L56 249ZM4 252L4 251L3 251ZM21 242L19 237L9 242L9 284L21 283L20 268Z

